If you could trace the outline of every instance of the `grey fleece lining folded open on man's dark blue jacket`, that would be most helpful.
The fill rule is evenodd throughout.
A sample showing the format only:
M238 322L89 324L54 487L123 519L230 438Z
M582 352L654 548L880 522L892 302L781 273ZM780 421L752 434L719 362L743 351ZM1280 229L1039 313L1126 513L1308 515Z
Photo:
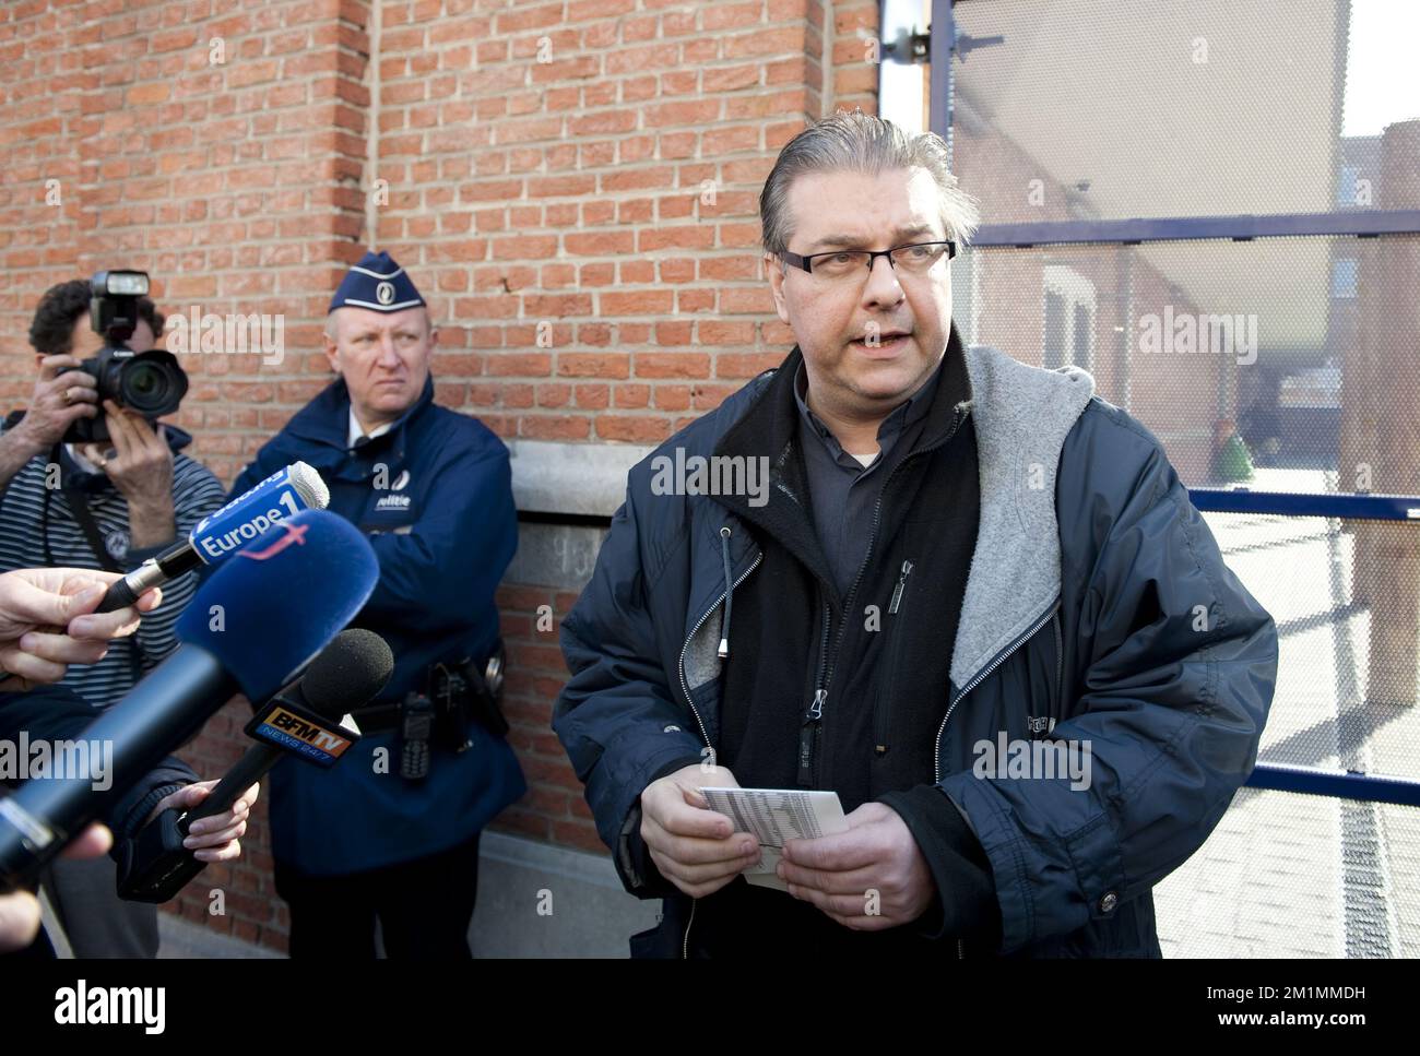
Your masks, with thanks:
M1059 596L1055 470L1065 437L1095 395L1095 379L1076 366L1042 370L981 346L967 348L966 359L981 514L951 651L958 688Z

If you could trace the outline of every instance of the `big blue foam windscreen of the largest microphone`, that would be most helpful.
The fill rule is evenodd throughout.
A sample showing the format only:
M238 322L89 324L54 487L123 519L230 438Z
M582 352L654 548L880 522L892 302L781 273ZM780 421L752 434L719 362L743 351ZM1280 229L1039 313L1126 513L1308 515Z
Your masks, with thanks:
M178 639L263 701L365 607L378 581L375 551L349 521L302 510L217 568L178 617Z

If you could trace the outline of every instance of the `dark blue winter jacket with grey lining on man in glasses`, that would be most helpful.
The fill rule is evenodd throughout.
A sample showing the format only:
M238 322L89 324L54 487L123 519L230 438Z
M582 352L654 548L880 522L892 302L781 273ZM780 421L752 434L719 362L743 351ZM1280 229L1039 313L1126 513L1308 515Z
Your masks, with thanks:
M1277 630L1223 563L1159 441L1095 396L1088 373L981 348L966 361L977 542L958 630L940 646L950 684L920 687L947 700L941 724L920 731L934 738L941 809L960 810L990 862L995 952L1157 957L1152 889L1201 846L1252 771ZM640 897L653 894L632 852L640 792L719 744L727 661L716 643L761 561L713 495L653 495L652 461L676 447L711 456L774 373L632 468L562 623L572 677L554 728ZM1089 744L1088 789L1064 774L974 772L983 742L1028 739L1041 717L1052 738ZM660 948L689 950L693 920L693 900L667 897L660 931L674 935Z

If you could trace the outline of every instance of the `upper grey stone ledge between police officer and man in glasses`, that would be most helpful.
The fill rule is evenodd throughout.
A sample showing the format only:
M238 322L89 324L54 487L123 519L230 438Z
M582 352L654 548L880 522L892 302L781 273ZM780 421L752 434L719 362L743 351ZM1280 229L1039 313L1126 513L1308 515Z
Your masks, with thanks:
M643 444L507 440L513 500L537 514L611 517L626 497L626 471L650 454Z

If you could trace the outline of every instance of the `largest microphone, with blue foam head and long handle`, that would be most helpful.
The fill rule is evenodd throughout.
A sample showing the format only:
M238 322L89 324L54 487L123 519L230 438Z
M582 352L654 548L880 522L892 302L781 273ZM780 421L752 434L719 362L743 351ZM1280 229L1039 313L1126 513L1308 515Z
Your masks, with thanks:
M379 561L352 524L302 510L237 551L178 619L179 647L81 735L112 759L111 789L44 778L0 801L0 883L37 871L236 693L264 701L365 606ZM112 751L108 747L112 745Z

